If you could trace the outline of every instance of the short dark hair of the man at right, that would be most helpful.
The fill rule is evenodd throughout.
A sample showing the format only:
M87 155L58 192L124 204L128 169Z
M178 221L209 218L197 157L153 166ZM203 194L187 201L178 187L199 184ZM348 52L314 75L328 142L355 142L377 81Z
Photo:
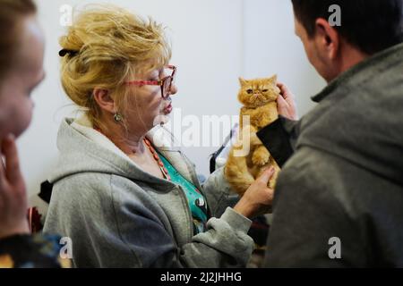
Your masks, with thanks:
M292 0L296 19L308 36L315 34L315 21L328 20L330 5L341 8L341 26L335 26L351 45L373 55L403 42L403 0Z

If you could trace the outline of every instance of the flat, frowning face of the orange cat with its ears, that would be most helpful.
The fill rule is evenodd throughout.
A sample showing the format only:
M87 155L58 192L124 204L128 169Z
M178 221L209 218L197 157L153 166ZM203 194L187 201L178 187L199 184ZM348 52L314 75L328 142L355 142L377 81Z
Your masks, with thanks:
M267 79L244 80L239 79L241 88L238 93L238 100L246 107L259 107L266 105L279 97L277 87L277 76Z

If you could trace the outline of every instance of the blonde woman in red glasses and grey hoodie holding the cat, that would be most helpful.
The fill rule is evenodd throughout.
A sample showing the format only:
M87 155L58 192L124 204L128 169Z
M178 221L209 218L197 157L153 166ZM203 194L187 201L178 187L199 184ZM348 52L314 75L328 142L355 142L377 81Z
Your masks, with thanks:
M45 231L73 240L73 265L245 266L272 170L227 207L222 170L201 187L193 164L150 136L177 91L164 29L102 7L81 13L60 44L65 93L85 113L61 124Z

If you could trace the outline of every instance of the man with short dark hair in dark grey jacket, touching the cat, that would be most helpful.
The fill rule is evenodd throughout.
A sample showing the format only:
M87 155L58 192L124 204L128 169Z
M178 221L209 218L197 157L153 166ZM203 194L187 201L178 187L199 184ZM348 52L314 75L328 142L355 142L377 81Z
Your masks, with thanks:
M258 134L287 161L265 266L403 267L402 0L292 2L296 35L329 85L302 120ZM280 114L293 119L282 89Z

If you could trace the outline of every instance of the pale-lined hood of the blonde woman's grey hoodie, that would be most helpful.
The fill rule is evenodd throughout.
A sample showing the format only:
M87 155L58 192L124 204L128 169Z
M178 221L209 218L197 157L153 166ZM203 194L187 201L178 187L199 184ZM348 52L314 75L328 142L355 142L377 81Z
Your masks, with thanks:
M181 172L187 180L199 185L197 180L194 181L197 176L193 174L193 168L180 150L167 146L166 137L156 136L160 130L159 127L151 130L147 138L158 146L159 152L167 157L178 172ZM123 176L133 181L142 181L152 184L157 189L175 186L170 181L142 171L141 167L117 148L112 141L92 129L86 116L76 121L71 118L64 119L57 135L57 148L59 149L58 164L48 179L51 183L81 172L100 172Z

